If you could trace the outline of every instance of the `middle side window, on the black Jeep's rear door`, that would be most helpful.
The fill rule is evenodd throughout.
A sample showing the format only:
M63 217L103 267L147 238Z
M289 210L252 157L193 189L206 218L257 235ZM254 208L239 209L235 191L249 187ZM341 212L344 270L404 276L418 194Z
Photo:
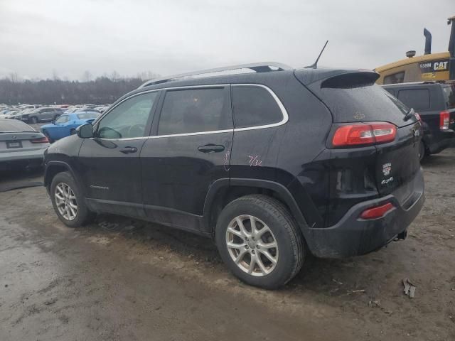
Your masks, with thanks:
M188 134L232 129L228 88L168 90L158 134Z

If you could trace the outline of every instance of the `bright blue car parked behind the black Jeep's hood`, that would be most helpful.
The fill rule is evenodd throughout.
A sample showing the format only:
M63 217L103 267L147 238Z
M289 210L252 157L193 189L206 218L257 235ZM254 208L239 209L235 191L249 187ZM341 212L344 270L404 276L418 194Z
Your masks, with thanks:
M75 134L76 128L82 124L91 123L100 116L99 112L72 112L63 114L51 124L41 126L41 132L53 142L63 137Z

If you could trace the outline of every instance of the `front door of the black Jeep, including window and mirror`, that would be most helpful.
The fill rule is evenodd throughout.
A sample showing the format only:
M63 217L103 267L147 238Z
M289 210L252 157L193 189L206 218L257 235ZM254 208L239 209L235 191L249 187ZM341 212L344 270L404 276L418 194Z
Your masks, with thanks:
M120 102L97 121L79 152L87 200L96 210L144 215L139 155L149 135L159 92Z

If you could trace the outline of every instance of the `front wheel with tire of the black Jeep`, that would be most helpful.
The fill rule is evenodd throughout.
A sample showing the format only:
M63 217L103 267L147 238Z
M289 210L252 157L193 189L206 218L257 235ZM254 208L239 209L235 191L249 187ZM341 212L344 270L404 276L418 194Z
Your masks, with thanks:
M95 217L85 205L84 197L71 173L55 175L50 184L50 199L58 219L68 227L80 227Z

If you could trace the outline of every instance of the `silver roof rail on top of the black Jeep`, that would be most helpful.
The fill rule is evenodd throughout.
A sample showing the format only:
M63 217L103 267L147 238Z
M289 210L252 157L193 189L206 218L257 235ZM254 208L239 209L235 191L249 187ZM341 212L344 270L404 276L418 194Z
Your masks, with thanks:
M174 80L177 80L178 78L183 78L183 77L191 77L191 76L205 75L205 74L215 73L215 72L234 71L234 70L242 70L242 69L250 69L255 72L272 72L272 71L292 70L292 67L282 64L282 63L275 63L275 62L240 64L240 65L232 65L232 66L225 66L225 67L216 67L215 69L186 72L186 73L181 73L180 75L172 75L172 76L168 76L168 77L155 78L153 80L148 80L148 81L144 82L144 84L142 84L139 88L146 87L149 85L156 85L156 84L161 84L161 83L166 83L166 82L172 82Z

